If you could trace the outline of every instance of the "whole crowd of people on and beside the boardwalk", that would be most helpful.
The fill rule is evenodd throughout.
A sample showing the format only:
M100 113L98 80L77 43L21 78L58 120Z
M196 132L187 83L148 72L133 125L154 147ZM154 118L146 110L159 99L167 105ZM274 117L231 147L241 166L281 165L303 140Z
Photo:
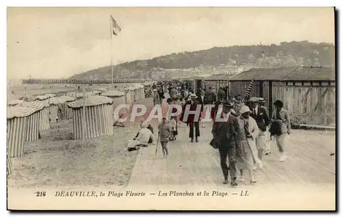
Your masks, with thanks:
M248 173L250 183L256 183L256 170L263 168L263 156L271 153L269 140L272 138L280 153L279 161L284 162L287 159L285 137L291 132L291 126L289 115L281 101L274 102L275 109L269 116L265 100L261 97L243 98L237 95L228 99L227 88L216 91L215 87L200 87L195 91L190 87L191 85L181 81L159 82L152 86L155 105L161 105L166 98L165 93L168 93L170 98L166 99L166 103L180 105L182 108L179 115L171 116L170 120L163 116L162 123L158 126L157 140L161 142L163 156L168 156L168 142L176 140L181 123L189 127L190 142L198 142L200 128L206 127L203 120L209 118L213 134L210 144L220 153L224 184L228 184L230 176L231 186L237 186L239 181L244 181L245 172ZM176 113L174 109L176 108L172 109L172 114ZM207 113L207 110L210 112ZM148 142L156 144L153 129L148 130L148 126L150 125L142 120L142 129L129 144L131 150L139 145L145 146Z

